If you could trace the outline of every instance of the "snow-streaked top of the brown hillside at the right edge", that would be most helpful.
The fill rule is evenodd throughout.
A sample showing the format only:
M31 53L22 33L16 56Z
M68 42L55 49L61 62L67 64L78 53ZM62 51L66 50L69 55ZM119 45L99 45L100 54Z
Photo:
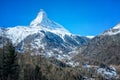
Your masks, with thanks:
M120 23L118 23L115 27L106 30L102 35L116 35L120 33Z

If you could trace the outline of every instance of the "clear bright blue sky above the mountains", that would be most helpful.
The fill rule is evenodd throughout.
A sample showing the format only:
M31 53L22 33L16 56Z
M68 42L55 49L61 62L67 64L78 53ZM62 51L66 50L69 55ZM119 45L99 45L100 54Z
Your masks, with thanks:
M40 9L83 36L98 35L120 22L120 0L0 0L0 26L29 25Z

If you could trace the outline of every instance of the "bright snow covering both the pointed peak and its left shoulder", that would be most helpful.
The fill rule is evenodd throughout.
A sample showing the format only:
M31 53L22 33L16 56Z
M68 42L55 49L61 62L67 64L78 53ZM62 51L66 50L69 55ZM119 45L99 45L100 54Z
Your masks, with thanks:
M16 26L7 28L7 37L12 39L14 44L19 43L28 35L35 34L40 30L55 33L63 38L64 35L71 35L62 25L47 18L46 13L41 10L37 17L30 23L30 26Z

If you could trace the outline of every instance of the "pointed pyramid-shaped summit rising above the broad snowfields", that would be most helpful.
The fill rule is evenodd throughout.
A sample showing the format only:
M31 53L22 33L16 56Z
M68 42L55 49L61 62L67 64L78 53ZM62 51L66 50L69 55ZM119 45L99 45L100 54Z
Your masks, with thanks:
M41 9L37 17L30 23L31 27L44 27L49 29L64 28L62 25L50 20L46 12Z

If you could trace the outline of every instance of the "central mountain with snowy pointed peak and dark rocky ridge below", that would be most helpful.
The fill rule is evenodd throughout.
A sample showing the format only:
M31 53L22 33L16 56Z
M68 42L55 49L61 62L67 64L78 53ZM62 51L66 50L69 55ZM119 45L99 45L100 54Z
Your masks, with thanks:
M20 52L43 54L47 57L64 57L77 46L86 45L86 37L71 34L62 25L50 20L41 10L30 26L16 26L0 29L5 36L12 40ZM1 34L2 35L2 34Z

